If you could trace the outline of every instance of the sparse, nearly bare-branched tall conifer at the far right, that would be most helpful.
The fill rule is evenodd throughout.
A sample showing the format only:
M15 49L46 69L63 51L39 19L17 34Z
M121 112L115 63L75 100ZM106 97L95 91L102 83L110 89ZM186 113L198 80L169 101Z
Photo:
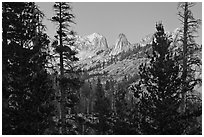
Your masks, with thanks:
M195 33L201 24L200 19L195 19L190 10L195 3L179 3L179 20L182 27L182 112L185 113L187 98L191 98L192 93L197 85L201 84L201 78L196 76L201 68L201 46L195 42ZM201 111L201 110L200 110Z

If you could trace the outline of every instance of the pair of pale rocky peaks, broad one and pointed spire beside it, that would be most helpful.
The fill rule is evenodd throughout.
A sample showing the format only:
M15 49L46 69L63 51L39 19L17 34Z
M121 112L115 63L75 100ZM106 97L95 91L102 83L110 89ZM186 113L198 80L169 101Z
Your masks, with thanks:
M115 45L112 47L108 46L106 38L99 33L93 33L83 37L76 36L76 45L79 53L77 56L80 59L91 58L103 51L110 51L109 55L114 56L131 48L131 43L123 33L119 34Z

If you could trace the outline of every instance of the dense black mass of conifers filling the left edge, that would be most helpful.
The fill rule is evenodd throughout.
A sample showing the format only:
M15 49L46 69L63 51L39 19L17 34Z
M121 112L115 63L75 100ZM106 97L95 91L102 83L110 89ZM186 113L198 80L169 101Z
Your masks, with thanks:
M43 134L53 108L48 36L34 3L3 3L3 134Z

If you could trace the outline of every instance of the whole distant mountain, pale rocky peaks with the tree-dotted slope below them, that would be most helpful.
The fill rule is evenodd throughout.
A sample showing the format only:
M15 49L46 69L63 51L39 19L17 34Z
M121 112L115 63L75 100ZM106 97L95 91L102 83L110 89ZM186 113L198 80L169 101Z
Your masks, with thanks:
M166 34L176 43L173 45L179 47L180 29ZM151 53L153 39L153 34L149 34L139 43L131 44L125 34L120 33L115 45L108 46L106 38L99 33L77 36L79 61L74 66L88 73L88 78L101 76L102 81L109 78L120 81L125 76L137 77L139 65L147 62L146 53Z

